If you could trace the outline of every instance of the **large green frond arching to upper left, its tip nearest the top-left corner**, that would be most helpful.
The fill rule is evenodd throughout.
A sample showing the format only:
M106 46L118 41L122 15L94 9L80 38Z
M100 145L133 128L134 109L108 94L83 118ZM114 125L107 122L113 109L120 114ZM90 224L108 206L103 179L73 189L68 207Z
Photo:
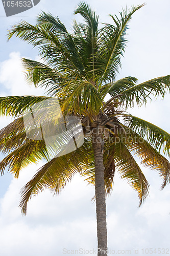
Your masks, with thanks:
M44 13L39 15L39 19L45 18L44 15ZM50 14L47 14L46 18L49 17ZM56 24L59 23L58 20L56 18ZM21 22L9 29L8 39L15 35L22 40L28 41L34 47L37 46L39 48L40 55L50 65L58 66L58 71L64 71L67 68L70 72L75 71L80 74L79 69L82 70L83 64L80 56L78 60L79 53L76 50L71 34L61 31L61 23L59 24L60 29L57 29L56 25L51 21L52 17L48 22L44 20L43 23L41 22L36 26ZM54 30L56 30L56 33L54 33Z

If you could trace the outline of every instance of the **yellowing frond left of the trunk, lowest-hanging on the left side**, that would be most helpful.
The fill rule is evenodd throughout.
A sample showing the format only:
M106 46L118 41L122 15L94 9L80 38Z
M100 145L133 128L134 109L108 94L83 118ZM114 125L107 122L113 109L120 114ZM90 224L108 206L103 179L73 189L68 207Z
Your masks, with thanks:
M35 176L21 190L22 213L26 214L28 201L44 188L50 189L54 194L59 193L74 174L81 174L89 163L89 152L90 145L86 141L76 151L53 158L38 169Z

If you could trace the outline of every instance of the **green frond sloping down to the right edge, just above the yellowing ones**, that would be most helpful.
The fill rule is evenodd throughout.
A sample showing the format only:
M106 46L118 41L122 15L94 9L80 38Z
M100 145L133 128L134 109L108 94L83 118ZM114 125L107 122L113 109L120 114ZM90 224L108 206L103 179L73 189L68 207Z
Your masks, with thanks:
M158 152L163 147L164 153L169 156L170 135L158 126L141 118L124 115L124 121L128 127L139 136L145 138Z

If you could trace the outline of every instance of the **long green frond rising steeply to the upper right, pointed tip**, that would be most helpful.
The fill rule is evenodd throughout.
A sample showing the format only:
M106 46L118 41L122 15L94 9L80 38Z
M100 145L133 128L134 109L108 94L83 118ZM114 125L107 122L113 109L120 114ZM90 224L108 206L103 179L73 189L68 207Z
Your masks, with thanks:
M114 80L115 75L118 72L118 68L121 67L120 57L123 56L125 51L126 42L125 39L127 24L130 21L134 12L140 9L143 5L133 7L129 14L127 10L123 9L123 13L120 12L120 19L115 15L110 15L115 23L115 26L106 24L102 29L101 36L101 50L99 56L103 62L103 75L101 78L101 89L103 81Z

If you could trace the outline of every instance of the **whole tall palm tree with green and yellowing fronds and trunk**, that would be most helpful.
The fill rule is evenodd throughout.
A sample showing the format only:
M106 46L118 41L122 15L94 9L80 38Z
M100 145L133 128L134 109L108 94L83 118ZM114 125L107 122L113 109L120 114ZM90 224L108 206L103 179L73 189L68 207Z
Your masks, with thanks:
M29 199L44 188L58 193L79 173L95 185L98 255L107 255L105 197L111 193L115 170L137 191L142 204L149 183L134 159L159 172L163 188L170 181L170 135L154 124L132 116L127 108L147 103L170 90L170 75L137 84L135 77L116 80L120 59L126 47L126 31L132 14L143 5L123 10L120 17L110 15L112 24L99 28L98 15L81 2L69 33L58 17L42 12L35 26L25 21L9 29L13 35L38 47L43 62L22 59L26 79L44 87L49 97L1 97L1 115L15 120L0 131L0 149L8 155L0 162L18 178L20 169L40 159L47 161L21 190L20 207L26 214ZM106 96L110 98L106 100ZM81 118L84 144L76 151L51 159L44 140L28 138L23 116L35 103L58 98L63 116ZM55 117L54 117L55 120ZM133 155L132 155L133 154ZM103 250L103 251L102 251Z

